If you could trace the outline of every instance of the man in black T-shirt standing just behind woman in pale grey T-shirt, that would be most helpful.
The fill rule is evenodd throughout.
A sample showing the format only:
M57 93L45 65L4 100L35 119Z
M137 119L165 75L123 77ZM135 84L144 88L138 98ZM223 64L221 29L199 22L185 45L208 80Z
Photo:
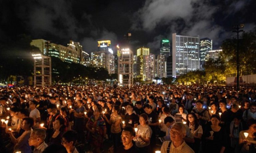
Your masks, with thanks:
M126 106L126 111L127 114L124 117L125 124L124 126L132 126L132 127L137 127L139 123L139 117L138 115L133 113L133 105L128 104Z

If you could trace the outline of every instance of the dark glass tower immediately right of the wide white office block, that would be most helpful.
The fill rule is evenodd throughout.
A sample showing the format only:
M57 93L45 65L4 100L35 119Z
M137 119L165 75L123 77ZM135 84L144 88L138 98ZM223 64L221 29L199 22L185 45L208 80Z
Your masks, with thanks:
M203 69L205 58L209 50L212 50L212 40L210 38L201 38L200 39L200 69Z

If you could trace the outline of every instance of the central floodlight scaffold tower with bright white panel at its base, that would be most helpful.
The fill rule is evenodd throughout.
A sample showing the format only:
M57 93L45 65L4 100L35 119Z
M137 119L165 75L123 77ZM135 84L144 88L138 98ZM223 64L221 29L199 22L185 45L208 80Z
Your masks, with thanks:
M118 46L118 84L133 85L133 52L129 48L119 50Z

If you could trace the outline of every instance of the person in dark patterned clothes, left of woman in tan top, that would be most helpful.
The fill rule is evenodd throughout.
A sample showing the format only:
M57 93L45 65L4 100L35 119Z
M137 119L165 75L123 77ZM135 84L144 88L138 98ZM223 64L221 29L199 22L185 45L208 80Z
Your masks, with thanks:
M86 128L89 130L87 138L95 153L100 153L107 132L105 121L100 116L101 112L100 106L95 107L94 114L86 124Z

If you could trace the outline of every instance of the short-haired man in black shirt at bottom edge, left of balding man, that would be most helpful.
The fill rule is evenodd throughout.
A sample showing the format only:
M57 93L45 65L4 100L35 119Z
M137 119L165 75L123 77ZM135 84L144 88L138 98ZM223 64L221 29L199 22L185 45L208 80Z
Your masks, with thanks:
M134 130L131 126L126 126L122 132L121 138L123 146L117 149L120 153L140 153L139 149L133 145Z

